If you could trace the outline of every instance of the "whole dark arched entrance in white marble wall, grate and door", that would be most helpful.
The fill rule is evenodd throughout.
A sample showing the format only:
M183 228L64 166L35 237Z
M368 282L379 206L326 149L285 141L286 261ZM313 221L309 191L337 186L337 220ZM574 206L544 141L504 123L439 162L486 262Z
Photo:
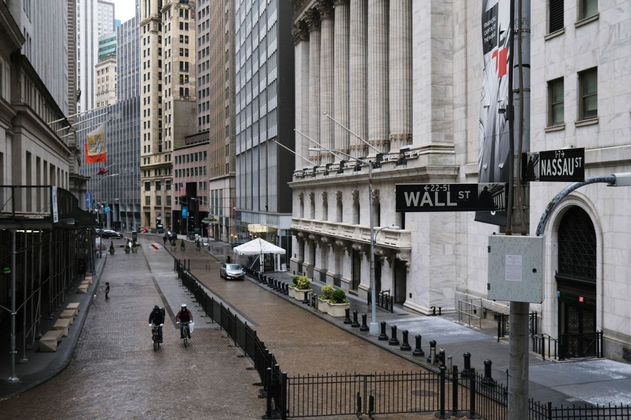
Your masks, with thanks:
M559 224L555 277L562 358L596 355L596 231L581 207Z

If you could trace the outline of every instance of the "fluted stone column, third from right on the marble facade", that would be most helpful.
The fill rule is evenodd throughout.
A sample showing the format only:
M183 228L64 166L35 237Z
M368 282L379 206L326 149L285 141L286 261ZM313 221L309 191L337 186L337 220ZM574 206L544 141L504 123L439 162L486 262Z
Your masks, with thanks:
M368 68L368 7L366 0L350 0L350 39L348 43L349 127L352 132L368 138L367 68ZM350 136L350 155L366 156L365 144Z

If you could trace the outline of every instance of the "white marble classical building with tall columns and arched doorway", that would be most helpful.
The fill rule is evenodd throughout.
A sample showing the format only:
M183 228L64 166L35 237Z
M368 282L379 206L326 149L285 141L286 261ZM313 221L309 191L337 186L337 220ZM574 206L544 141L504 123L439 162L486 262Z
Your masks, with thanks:
M454 312L464 299L488 316L507 312L507 302L487 300L488 235L500 226L473 213L394 211L398 183L477 182L482 3L293 1L295 151L315 165L295 158L292 271L362 296L370 287L368 168L309 150L334 149L376 163L374 225L402 228L377 234L377 289L420 313ZM565 2L559 19L548 2L531 2L531 150L584 147L586 177L629 172L631 50L622 28L631 16L586 3L596 6L577 14ZM603 41L593 47L595 39ZM536 226L565 184L530 184L524 211ZM531 305L540 333L602 330L605 355L628 358L631 312L619 291L631 272L630 196L589 185L551 215L545 300Z

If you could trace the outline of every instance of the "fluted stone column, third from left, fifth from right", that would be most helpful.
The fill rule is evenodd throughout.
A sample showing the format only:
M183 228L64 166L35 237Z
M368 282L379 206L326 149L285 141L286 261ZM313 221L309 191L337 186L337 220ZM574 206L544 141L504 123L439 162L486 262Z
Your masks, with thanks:
M334 37L334 25L333 25L333 3L331 0L321 0L315 6L320 14L320 33L321 33L321 50L320 50L320 106L321 106L321 125L320 125L320 138L314 137L315 141L324 146L326 149L333 149L333 124L324 115L333 115L335 110L333 108L333 37ZM330 152L323 152L321 163L331 163L333 161L333 155Z

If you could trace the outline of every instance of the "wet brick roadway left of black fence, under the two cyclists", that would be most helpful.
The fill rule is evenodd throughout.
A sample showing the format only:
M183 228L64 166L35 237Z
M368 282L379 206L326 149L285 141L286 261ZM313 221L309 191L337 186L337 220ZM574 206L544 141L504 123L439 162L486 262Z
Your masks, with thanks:
M151 346L147 318L161 296L145 258L167 261L165 251L150 251L142 240L138 254L108 259L102 284L112 286L110 300L98 296L88 314L73 359L66 370L23 394L0 401L3 417L20 419L254 419L264 413L252 383L259 378L248 359L230 347L221 331L196 329L188 348L171 320L164 346ZM149 254L160 252L161 254ZM168 273L172 277L172 272ZM178 284L172 283L175 293ZM166 286L165 286L166 287ZM181 292L180 301L187 298ZM196 324L197 324L196 320ZM227 395L235 397L227 398Z

